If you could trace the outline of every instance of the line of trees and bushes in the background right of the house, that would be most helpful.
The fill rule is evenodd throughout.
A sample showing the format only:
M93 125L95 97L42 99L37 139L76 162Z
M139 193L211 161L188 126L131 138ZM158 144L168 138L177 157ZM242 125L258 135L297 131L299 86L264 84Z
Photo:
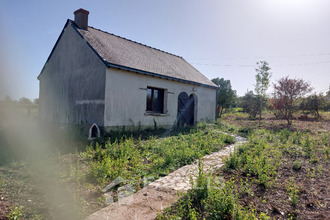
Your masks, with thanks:
M330 111L330 87L325 94L313 93L311 84L303 79L293 79L289 76L280 78L273 83L273 91L267 93L272 76L270 70L266 61L258 62L255 89L247 91L241 97L238 97L236 91L231 88L230 80L212 79L212 82L219 87L217 91L218 117L221 118L224 111L238 107L248 113L250 119L258 119L260 125L262 112L268 110L277 119L284 119L288 125L291 125L297 113L305 117L312 114L319 120L322 118L321 111Z

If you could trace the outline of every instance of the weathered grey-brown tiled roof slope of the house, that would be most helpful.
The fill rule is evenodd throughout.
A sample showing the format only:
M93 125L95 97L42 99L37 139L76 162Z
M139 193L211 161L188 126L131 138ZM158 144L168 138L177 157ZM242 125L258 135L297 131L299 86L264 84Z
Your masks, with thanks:
M87 31L77 28L77 31L106 63L174 80L216 87L182 57L93 27L88 27Z

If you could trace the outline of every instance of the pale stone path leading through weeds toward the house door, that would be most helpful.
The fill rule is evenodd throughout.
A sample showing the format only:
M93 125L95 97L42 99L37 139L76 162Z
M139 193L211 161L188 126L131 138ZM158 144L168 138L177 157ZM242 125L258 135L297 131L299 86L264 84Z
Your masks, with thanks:
M213 172L222 167L223 158L229 156L235 146L246 141L240 136L235 138L235 144L201 158L204 171ZM198 161L150 183L139 192L93 213L87 219L155 219L158 212L177 201L178 191L191 189L190 179L196 179L197 174Z

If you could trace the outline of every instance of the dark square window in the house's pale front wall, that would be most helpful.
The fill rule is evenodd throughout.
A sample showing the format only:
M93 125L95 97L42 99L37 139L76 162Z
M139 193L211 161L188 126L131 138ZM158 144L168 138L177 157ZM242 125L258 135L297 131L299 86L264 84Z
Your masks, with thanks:
M147 88L147 111L164 113L164 89Z

